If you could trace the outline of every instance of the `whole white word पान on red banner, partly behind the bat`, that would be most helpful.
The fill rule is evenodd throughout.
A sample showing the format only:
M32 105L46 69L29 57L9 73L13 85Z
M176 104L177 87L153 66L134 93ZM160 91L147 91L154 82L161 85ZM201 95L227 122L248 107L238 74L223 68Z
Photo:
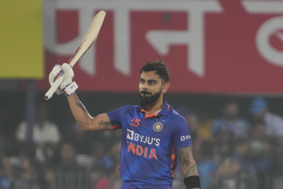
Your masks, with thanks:
M44 0L44 43L45 48L61 55L71 55L76 49L84 32L68 43L56 42L55 11L75 9L79 12L80 31L87 31L93 18L94 10L113 10L114 14L114 68L124 75L131 73L130 66L130 21L129 12L144 11L186 11L188 13L189 30L187 31L148 31L146 38L161 55L166 55L171 44L185 44L190 49L187 67L199 76L204 76L204 22L205 12L221 12L222 6L216 0L183 1L183 0ZM48 31L48 32L47 32ZM95 47L94 47L95 48ZM80 68L90 75L94 75L95 53L85 53L80 60Z

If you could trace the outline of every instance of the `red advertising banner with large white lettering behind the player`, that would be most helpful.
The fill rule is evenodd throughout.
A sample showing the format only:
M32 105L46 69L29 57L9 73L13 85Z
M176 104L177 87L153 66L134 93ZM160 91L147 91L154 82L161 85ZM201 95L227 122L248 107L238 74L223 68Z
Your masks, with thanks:
M58 0L44 3L45 70L67 62L93 16L98 38L75 65L81 91L137 91L139 70L163 59L169 92L283 92L283 1Z

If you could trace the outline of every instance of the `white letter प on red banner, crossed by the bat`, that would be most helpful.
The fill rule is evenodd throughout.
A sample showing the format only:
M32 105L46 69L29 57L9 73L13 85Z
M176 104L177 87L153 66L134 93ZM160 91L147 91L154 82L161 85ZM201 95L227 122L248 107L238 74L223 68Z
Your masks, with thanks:
M79 32L79 35L73 40L59 44L56 41L56 10L64 10L64 9L78 9L79 11L79 29L80 31L87 31L89 25L93 19L93 7L88 6L78 6L73 4L74 6L67 7L67 4L73 4L73 2L69 1L65 3L64 6L60 6L60 1L52 1L45 0L43 1L43 32L44 32L44 45L50 52L58 53L60 55L72 55L75 52L75 49L80 44L80 41L83 39L85 35L84 32ZM94 6L95 7L95 6ZM95 44L93 47L95 48ZM90 75L95 74L95 53L87 52L80 59L80 68L87 72Z

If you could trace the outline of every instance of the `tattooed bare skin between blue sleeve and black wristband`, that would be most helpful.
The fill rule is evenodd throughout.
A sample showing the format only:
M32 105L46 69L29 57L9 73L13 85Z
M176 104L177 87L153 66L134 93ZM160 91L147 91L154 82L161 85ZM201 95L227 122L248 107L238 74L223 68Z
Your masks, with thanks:
M191 155L191 147L187 146L178 150L182 171L185 177L198 175L198 168Z

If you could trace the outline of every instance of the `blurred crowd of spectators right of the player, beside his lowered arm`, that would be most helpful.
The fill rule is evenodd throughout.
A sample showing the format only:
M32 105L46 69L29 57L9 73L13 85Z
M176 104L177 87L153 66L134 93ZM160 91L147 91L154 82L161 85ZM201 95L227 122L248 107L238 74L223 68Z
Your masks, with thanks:
M261 97L252 100L249 115L240 111L235 100L223 103L222 114L210 120L179 109L191 131L202 189L282 189L282 117Z

